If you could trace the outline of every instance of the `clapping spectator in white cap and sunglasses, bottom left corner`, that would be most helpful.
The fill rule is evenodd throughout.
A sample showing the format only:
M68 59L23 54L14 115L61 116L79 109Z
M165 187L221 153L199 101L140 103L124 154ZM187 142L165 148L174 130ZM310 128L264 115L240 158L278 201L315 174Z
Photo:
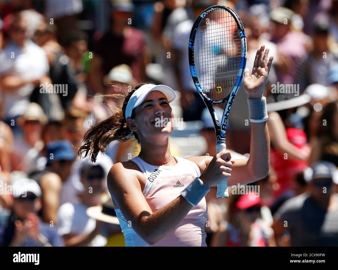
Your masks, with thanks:
M56 229L38 217L42 191L37 182L23 178L12 187L13 211L0 216L0 246L63 246Z

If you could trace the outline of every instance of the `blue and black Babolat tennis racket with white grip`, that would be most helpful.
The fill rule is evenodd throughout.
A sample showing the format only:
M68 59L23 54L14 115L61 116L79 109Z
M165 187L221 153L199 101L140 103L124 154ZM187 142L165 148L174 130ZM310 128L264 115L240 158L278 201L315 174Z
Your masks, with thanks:
M189 39L189 65L196 89L213 118L216 152L226 150L225 128L236 93L244 77L246 38L234 10L215 5L196 19ZM221 123L213 104L226 103ZM217 186L217 197L228 197L227 180Z

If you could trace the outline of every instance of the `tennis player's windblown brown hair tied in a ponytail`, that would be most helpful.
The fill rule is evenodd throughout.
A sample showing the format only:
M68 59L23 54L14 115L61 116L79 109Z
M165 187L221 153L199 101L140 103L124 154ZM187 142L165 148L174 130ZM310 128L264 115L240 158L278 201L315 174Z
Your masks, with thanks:
M131 133L131 130L127 126L127 121L125 118L125 111L127 103L131 98L132 93L139 89L142 85L148 84L151 82L141 83L137 85L127 96L121 94L111 94L103 95L103 97L113 97L113 98L123 98L125 97L122 105L122 110L120 108L115 108L113 115L98 122L96 125L91 126L90 129L84 134L83 145L79 148L78 155L80 157L90 156L91 161L95 162L98 153L106 152L106 147L115 140L118 141L127 141L129 138L126 138L127 135ZM104 99L105 105L109 108ZM131 118L135 117L135 111L132 110ZM136 133L133 133L137 142L139 139Z

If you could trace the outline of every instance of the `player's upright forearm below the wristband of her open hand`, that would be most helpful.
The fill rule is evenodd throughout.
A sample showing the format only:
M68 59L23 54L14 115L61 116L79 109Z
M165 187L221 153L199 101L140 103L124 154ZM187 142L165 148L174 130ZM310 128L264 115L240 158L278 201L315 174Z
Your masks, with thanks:
M270 139L266 121L251 123L250 157L247 163L251 180L266 177L270 163Z

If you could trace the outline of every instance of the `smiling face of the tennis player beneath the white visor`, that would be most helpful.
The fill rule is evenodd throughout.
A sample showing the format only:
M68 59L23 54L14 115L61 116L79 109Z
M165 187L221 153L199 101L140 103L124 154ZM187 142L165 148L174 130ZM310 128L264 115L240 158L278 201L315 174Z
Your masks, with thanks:
M142 141L155 145L168 141L173 130L173 112L162 92L151 91L134 111L135 118L127 118L127 124L136 132L141 145Z

